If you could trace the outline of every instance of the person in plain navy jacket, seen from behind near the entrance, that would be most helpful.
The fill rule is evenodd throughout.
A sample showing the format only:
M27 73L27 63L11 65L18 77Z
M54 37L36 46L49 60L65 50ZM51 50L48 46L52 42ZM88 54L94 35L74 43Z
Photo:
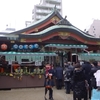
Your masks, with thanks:
M58 64L55 68L56 88L62 89L63 86L63 68Z

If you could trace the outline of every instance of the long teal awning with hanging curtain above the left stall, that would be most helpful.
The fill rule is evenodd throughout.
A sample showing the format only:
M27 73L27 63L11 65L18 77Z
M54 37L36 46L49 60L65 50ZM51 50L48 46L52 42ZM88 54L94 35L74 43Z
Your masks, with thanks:
M29 59L29 61L44 61L45 56L57 56L52 52L0 52L0 55L4 55L6 61L18 61L22 62L22 59Z

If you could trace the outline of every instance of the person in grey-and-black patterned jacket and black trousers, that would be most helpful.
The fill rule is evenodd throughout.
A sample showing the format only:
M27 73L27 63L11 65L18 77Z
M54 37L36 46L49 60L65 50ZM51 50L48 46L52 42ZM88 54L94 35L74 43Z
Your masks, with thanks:
M70 94L72 72L73 72L72 66L70 66L67 62L65 62L63 76L64 76L64 84L65 84L65 89L67 94Z

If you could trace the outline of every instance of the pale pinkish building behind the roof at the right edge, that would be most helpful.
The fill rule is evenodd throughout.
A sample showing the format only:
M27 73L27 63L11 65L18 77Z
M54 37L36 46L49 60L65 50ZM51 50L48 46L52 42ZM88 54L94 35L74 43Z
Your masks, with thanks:
M91 24L88 33L100 38L100 20L94 20L93 23Z

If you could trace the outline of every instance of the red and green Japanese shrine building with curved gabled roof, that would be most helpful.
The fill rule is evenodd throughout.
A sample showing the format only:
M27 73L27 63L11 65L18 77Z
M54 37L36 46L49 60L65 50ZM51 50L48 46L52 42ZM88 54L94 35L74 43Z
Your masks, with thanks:
M31 26L0 33L0 89L44 86L45 64L99 61L98 50L100 38L73 26L55 7Z

